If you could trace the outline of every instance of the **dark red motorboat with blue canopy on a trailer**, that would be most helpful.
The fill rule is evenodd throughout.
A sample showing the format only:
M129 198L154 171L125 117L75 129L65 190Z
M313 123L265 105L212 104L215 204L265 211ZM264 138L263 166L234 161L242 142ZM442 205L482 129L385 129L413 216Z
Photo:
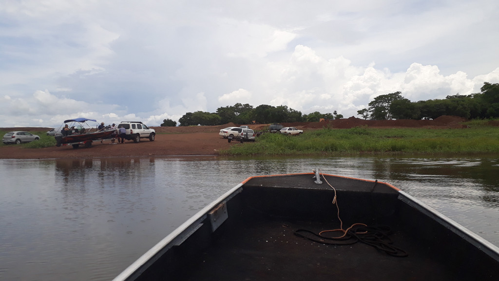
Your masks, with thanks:
M54 136L56 141L55 146L72 145L73 148L78 148L80 145L84 145L85 147L90 147L93 141L117 137L116 129L104 127L99 130L97 127L94 128L89 125L88 121L97 122L97 120L87 118L65 120ZM69 128L75 126L77 131L63 134L65 124L68 124Z

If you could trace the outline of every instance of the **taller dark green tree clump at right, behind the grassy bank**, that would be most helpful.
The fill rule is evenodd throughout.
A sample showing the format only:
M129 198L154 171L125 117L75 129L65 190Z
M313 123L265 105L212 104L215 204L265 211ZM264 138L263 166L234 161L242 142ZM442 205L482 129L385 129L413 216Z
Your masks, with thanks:
M445 99L412 102L400 91L382 94L357 111L364 119L423 119L454 115L467 119L499 117L499 84L485 82L480 93L448 95Z

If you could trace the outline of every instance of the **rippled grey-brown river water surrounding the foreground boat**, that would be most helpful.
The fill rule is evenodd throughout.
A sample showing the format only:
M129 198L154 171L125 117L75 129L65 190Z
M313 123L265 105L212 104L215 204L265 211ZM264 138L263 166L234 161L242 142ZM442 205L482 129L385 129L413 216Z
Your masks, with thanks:
M0 159L0 280L110 280L245 178L316 167L391 183L499 246L493 157Z

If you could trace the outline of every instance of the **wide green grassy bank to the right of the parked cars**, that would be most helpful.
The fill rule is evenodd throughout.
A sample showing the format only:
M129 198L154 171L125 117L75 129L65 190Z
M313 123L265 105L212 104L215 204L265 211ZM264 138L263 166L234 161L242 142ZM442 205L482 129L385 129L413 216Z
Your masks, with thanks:
M369 128L305 130L288 136L264 133L256 142L237 144L223 155L299 155L357 153L499 153L499 127L484 122L467 128Z

